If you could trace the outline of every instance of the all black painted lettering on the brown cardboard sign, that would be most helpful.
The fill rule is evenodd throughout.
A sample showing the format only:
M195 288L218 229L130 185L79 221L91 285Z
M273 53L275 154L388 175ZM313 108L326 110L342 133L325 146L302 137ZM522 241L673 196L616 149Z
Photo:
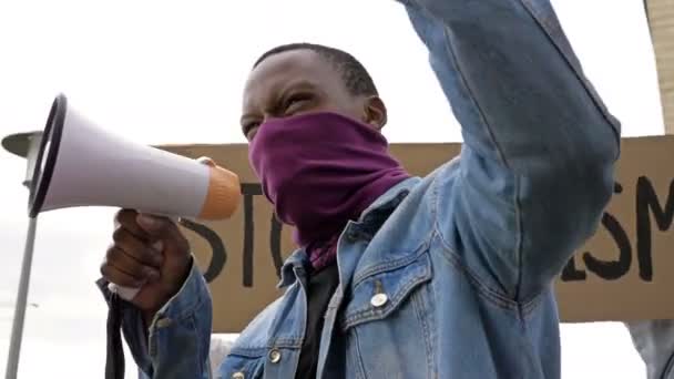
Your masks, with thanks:
M253 254L255 248L255 227L254 227L254 196L262 196L262 186L258 183L242 184L244 198L244 228L243 228L243 283L244 287L253 287L254 267ZM621 196L623 186L620 183L614 185L614 197ZM664 202L663 202L664 201ZM588 278L589 273L604 280L617 280L626 275L633 266L639 269L641 280L653 281L653 252L652 239L654 226L660 232L667 232L674 221L674 180L670 183L665 198L658 198L651 180L646 176L636 178L635 199L633 203L636 215L636 235L633 240L621 225L621 221L613 214L605 212L601 219L601 227L604 228L615 244L615 259L602 260L596 258L592 252L583 252L572 257L561 274L562 281L582 281ZM257 221L261 222L261 221ZM276 274L280 274L283 257L280 252L282 224L272 214L269 216L270 233L268 236L268 254L276 268ZM654 223L653 223L654 222ZM223 240L213 229L206 225L183 221L182 226L205 239L211 246L212 258L204 272L206 281L215 279L227 264L226 242ZM287 253L287 252L286 252ZM636 259L634 259L636 255ZM579 269L576 259L582 259L585 269ZM634 262L636 260L636 262Z

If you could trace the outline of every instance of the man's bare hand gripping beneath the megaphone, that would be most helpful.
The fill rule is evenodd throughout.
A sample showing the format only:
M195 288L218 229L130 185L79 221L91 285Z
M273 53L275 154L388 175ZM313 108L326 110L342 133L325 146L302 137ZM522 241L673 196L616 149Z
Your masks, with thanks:
M166 217L122 209L115 221L101 274L119 286L141 287L131 303L152 318L190 275L190 244Z

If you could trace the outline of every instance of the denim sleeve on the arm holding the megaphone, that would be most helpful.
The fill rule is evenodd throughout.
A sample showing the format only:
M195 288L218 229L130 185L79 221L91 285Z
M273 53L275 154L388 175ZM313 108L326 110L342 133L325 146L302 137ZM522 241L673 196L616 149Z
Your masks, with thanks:
M101 289L106 291L104 284ZM139 367L139 378L211 378L212 301L194 259L183 287L145 329L141 311L122 308L122 331Z

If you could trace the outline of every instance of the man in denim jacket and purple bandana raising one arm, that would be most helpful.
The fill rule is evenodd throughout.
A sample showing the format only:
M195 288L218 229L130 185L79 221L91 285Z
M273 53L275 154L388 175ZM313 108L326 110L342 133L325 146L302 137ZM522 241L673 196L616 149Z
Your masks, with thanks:
M548 1L404 3L462 124L460 160L408 176L380 134L385 104L349 54L264 54L242 127L302 248L223 378L560 377L552 283L611 197L619 123ZM167 219L118 219L102 273L145 283L123 310L142 376L206 378L211 298L187 243Z

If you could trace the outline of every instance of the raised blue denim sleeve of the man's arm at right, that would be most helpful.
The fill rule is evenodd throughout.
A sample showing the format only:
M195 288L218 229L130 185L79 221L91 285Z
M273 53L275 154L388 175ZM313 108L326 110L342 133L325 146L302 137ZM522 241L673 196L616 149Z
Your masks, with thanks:
M401 0L462 125L439 173L448 250L527 301L596 229L620 124L585 79L544 0Z

